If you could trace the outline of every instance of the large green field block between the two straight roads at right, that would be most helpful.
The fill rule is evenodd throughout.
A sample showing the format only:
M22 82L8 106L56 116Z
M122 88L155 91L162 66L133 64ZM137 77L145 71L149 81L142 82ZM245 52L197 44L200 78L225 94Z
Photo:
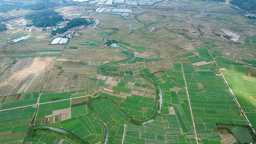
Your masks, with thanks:
M216 129L214 123L246 124L244 117L237 114L240 111L220 76L211 71L196 72L192 66L183 66L183 69L195 118L195 129L201 139L221 139L218 133L209 131ZM207 78L202 77L203 75L207 75Z

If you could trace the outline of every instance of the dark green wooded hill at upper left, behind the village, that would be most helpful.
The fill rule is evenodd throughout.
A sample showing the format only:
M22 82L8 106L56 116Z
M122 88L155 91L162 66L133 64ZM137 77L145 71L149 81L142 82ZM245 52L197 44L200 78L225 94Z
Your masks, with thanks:
M56 23L64 20L58 12L55 11L46 11L46 12L37 12L34 14L30 14L25 16L26 19L32 20L31 25L35 25L37 27L47 27L47 26L55 26ZM27 25L30 26L30 25Z

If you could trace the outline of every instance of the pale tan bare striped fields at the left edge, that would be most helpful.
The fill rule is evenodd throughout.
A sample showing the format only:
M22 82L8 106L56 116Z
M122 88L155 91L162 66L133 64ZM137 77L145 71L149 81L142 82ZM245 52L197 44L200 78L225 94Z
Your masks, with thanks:
M38 92L43 85L45 70L54 57L15 60L1 75L0 96Z

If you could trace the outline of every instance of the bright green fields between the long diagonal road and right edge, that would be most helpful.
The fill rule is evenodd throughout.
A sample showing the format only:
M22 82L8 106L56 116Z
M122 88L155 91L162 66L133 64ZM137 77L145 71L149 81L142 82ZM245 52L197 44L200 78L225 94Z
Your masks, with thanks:
M246 116L251 121L253 126L256 126L255 109L256 95L254 92L256 78L252 76L252 69L248 69L244 65L237 65L234 61L217 59L220 64L221 72L228 77L227 81L230 84L232 91L239 101L239 104L246 112ZM229 75L229 76L228 76Z

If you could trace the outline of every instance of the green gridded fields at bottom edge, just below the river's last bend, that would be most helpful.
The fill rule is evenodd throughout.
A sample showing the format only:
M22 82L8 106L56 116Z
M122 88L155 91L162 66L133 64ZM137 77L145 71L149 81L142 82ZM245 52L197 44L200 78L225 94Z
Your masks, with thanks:
M193 144L195 142L194 133L184 134L177 116L176 114L163 114L151 124L142 127L127 125L124 142L132 144Z

